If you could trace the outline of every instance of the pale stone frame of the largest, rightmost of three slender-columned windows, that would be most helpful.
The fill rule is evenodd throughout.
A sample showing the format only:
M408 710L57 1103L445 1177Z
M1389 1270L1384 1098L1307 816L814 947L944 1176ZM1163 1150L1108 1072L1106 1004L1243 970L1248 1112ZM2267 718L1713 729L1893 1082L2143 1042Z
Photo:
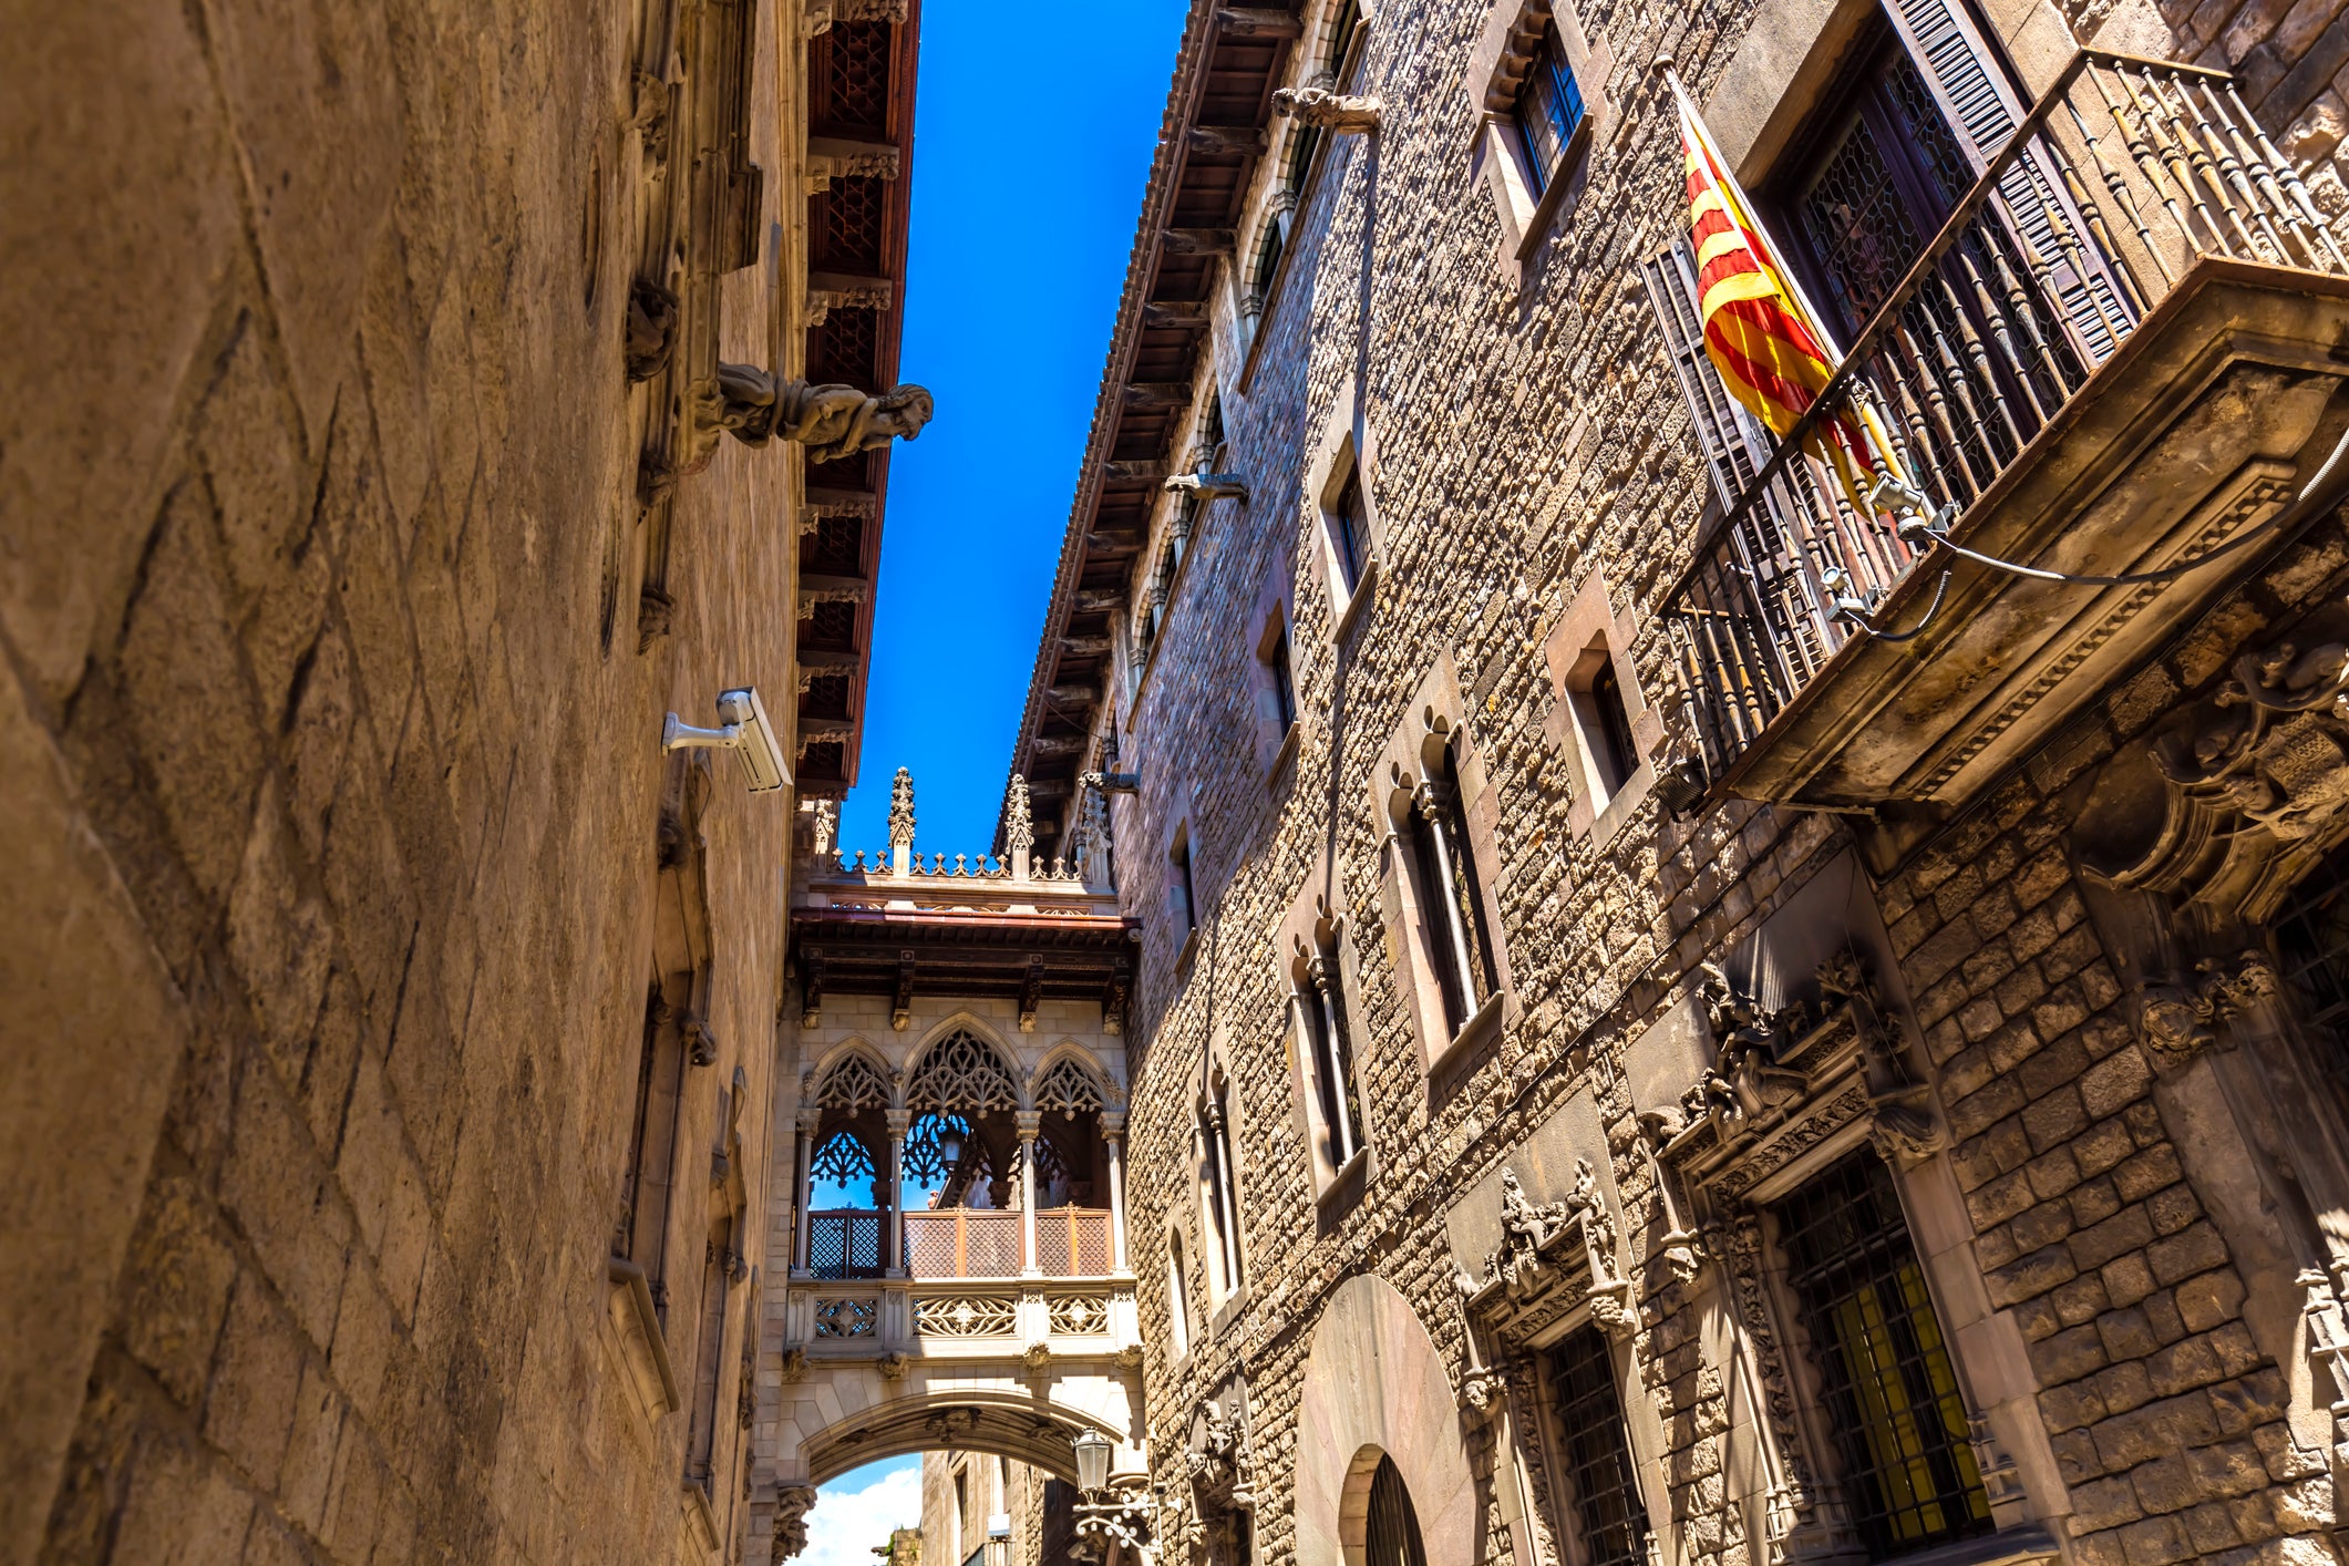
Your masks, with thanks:
M1421 1073L1433 1082L1501 1028L1525 1014L1508 963L1508 934L1501 920L1501 801L1485 768L1482 747L1468 728L1459 671L1452 653L1440 653L1419 690L1412 693L1402 721L1388 735L1372 775L1369 819L1379 831L1379 911L1386 925L1386 951L1395 967L1398 1000L1419 1040ZM1459 1028L1445 1017L1442 979L1435 972L1435 934L1402 815L1412 791L1426 775L1428 747L1452 747L1459 775L1459 808L1468 824L1468 855L1475 892L1485 911L1492 946L1492 995Z

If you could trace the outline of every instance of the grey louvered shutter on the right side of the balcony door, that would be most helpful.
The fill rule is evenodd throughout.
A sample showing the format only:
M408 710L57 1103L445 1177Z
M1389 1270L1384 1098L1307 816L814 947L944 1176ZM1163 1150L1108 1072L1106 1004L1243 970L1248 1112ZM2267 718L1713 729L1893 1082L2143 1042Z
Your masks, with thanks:
M2006 70L1992 59L1990 45L1983 42L1973 19L1961 9L1961 0L1891 0L1886 9L1910 59L1924 70L1943 113L1950 115L1950 127L1966 146L1973 171L1980 174L2022 124L2022 99L2006 80ZM2088 225L2037 153L2008 164L2006 174L1999 176L1999 195L2006 200L2006 211L2022 242L2048 263L2051 286L2062 303L2072 338L2091 364L2102 364L2116 345L2109 322L2123 319L2121 301L2102 272L2081 277L2069 265L2051 211L2062 211L2065 228L2074 239L2086 235ZM2091 289L2095 289L2093 296Z

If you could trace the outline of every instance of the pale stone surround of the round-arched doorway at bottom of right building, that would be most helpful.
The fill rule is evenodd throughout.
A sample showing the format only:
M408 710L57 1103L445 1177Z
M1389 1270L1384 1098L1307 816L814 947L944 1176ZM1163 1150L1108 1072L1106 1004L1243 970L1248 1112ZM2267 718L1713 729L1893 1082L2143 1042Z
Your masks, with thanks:
M1367 1474L1379 1456L1393 1460L1412 1493L1428 1559L1478 1559L1480 1486L1452 1376L1409 1301L1365 1273L1330 1296L1306 1355L1297 1404L1297 1566L1360 1566Z

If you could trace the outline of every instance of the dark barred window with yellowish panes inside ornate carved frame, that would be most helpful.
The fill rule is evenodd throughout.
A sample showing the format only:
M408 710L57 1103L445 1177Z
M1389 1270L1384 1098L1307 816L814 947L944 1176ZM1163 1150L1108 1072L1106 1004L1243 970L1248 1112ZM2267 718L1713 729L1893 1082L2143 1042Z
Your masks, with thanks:
M1891 1172L1860 1150L1788 1197L1778 1223L1867 1559L1987 1533L1966 1404Z

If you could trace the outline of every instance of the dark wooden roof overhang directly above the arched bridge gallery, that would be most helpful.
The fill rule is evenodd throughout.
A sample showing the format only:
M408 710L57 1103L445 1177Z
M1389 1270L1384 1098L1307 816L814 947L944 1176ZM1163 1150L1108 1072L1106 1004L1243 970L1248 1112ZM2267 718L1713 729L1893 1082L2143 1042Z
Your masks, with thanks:
M803 909L792 953L817 995L1090 1000L1116 1014L1137 927L1099 913Z

